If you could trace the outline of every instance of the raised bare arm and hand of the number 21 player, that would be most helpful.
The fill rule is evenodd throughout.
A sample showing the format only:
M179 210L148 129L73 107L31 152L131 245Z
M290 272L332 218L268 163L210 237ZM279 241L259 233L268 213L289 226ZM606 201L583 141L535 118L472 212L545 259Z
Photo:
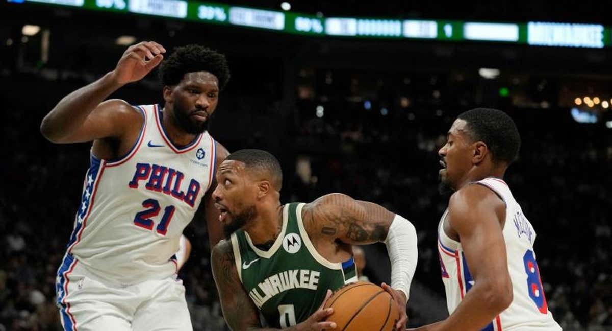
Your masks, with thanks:
M121 139L134 123L139 128L142 116L127 102L103 101L121 86L151 72L160 64L165 51L155 42L130 46L113 71L59 101L43 119L40 132L51 142L72 143L107 137Z

